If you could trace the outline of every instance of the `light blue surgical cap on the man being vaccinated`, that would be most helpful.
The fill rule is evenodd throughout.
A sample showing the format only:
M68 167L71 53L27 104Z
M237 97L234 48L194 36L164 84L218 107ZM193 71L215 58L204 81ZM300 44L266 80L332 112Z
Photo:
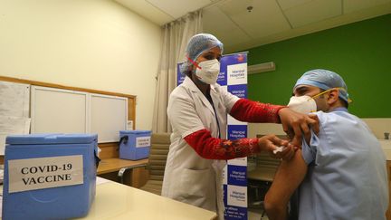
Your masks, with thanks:
M339 98L349 102L348 86L336 72L321 69L305 72L300 79L296 81L293 91L300 85L315 86L326 91L332 88L342 88L343 90L339 90Z

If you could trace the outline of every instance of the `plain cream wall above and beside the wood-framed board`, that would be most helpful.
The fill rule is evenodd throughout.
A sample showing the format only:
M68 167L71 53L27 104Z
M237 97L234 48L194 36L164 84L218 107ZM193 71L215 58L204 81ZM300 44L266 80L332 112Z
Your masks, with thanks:
M160 37L110 0L0 0L0 75L137 95L151 129Z

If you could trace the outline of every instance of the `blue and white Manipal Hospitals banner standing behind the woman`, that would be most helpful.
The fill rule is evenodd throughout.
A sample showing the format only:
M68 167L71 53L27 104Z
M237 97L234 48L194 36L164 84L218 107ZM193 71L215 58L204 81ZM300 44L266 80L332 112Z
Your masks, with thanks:
M176 85L181 84L185 76L177 65ZM217 83L226 91L239 98L247 98L247 53L224 55L220 60L220 73ZM224 137L222 137L224 139ZM235 120L228 115L226 139L247 138L247 123ZM223 175L224 219L247 219L247 158L227 161Z

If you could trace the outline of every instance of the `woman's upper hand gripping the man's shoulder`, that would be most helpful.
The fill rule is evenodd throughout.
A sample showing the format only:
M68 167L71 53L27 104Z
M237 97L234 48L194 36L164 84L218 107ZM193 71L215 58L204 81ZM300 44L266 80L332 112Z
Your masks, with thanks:
M278 114L282 128L292 139L291 143L294 146L301 146L303 134L306 139L310 139L310 129L316 134L319 133L319 119L315 114L305 115L289 108L279 110Z

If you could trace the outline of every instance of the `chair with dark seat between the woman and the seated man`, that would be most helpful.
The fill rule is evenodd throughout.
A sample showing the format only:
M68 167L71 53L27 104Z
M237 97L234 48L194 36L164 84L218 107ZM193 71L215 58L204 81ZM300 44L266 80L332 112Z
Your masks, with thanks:
M256 167L247 173L249 190L249 207L262 208L262 215L265 214L263 199L272 180L280 166L281 160L271 158L267 152L262 152L256 156ZM252 197L251 194L253 194Z

